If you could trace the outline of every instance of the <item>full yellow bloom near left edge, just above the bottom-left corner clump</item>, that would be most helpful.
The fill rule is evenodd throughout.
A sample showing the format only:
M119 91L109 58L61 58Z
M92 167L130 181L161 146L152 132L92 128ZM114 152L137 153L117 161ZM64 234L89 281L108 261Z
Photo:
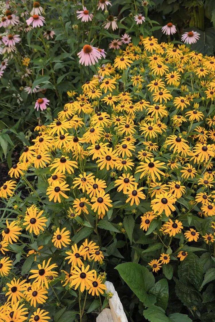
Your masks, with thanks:
M8 292L5 296L8 296L7 301L11 301L11 305L16 304L21 298L24 298L23 291L25 290L25 283L26 279L20 281L20 279L15 279L15 277L7 283Z

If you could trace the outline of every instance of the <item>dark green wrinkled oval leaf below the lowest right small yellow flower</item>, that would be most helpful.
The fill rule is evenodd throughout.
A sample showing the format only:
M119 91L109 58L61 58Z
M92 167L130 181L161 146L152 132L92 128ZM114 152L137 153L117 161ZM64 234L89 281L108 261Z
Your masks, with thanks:
M194 253L188 254L179 266L178 276L182 284L199 289L203 280L203 266L199 257Z

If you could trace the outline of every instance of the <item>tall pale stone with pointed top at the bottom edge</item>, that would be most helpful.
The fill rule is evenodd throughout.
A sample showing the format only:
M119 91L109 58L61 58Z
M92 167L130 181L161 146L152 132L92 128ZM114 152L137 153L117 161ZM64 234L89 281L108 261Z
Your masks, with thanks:
M112 318L113 322L128 322L128 319L125 315L125 312L122 307L122 303L120 301L120 298L117 294L117 292L114 289L114 286L111 282L106 281L106 293L113 293L112 298L109 298L109 306L111 308ZM107 320L108 321L108 320ZM102 322L106 322L103 320Z

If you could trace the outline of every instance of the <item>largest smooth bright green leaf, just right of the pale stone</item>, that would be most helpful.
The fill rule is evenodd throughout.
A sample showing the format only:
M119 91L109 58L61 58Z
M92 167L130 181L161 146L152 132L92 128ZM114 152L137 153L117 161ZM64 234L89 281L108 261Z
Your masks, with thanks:
M154 276L147 268L129 262L120 264L115 269L145 306L156 302L156 298L148 293L154 286Z

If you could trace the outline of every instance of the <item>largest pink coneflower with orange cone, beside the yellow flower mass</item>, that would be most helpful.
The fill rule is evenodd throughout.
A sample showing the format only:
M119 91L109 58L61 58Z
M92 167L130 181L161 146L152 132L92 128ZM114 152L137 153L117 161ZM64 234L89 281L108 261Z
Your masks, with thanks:
M98 51L98 48L90 45L84 45L83 49L77 55L80 58L79 63L84 64L84 66L95 65L98 59L101 58L101 53Z

